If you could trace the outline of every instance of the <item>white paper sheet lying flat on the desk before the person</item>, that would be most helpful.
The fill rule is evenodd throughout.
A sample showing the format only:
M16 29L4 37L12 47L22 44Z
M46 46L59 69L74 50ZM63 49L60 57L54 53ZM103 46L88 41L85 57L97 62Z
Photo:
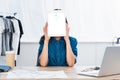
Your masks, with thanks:
M7 73L7 78L67 78L64 71L14 70Z

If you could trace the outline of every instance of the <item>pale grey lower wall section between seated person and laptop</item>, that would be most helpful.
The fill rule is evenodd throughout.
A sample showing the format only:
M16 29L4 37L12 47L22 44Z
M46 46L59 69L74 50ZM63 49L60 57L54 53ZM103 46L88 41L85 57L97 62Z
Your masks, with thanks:
M78 65L96 65L100 66L105 48L111 46L111 43L79 43L78 44Z

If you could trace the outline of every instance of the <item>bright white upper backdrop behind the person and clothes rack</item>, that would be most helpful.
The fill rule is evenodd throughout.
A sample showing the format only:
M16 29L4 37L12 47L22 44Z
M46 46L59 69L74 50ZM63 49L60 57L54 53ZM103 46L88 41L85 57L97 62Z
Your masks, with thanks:
M17 12L24 29L22 42L38 42L47 14L65 13L70 35L80 42L111 42L120 36L120 0L0 0L1 12Z

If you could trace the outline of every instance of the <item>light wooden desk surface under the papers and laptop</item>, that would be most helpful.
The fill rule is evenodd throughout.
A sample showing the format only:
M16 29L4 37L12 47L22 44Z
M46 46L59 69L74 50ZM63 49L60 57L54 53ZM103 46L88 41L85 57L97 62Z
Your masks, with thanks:
M15 67L13 70L17 69L27 69L27 70L38 70L38 71L59 71L63 70L68 78L50 78L50 79L39 79L39 80L120 80L120 75L108 76L108 77L88 77L78 75L76 73L75 67ZM13 80L7 79L7 73L0 73L0 80ZM34 78L22 78L22 79L14 79L14 80L38 80Z

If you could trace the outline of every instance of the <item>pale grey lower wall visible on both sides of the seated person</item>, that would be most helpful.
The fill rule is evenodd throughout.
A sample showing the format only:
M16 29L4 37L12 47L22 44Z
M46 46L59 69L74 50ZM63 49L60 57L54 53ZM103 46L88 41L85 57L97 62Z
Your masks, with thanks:
M111 43L79 43L77 65L99 66L106 46ZM38 54L38 43L22 43L21 53L17 59L17 66L35 66Z

